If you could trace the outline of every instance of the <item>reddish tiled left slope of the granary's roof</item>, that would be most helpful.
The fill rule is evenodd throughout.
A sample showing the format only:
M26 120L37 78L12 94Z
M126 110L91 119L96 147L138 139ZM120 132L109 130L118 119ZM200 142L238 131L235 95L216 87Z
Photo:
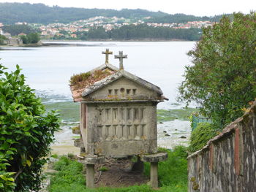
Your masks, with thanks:
M116 71L118 71L118 68L116 66L113 66L111 64L102 64L101 66L98 66L97 68L87 72L88 74L91 74L91 77L89 77L88 79L80 80L79 82L75 82L75 83L70 83L70 89L72 92L73 100L75 102L81 101L82 93L85 88L89 87L90 85L93 85L94 82L102 80L108 75L115 73ZM97 72L103 72L103 73L99 75L99 77L94 77L94 74L97 74Z

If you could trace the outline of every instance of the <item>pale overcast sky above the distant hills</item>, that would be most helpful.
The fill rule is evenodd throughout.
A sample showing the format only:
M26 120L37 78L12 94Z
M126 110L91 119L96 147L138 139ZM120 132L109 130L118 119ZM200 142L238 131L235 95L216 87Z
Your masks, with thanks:
M213 16L223 13L256 10L256 0L0 0L0 2L42 3L49 6L102 9L148 9L169 14Z

